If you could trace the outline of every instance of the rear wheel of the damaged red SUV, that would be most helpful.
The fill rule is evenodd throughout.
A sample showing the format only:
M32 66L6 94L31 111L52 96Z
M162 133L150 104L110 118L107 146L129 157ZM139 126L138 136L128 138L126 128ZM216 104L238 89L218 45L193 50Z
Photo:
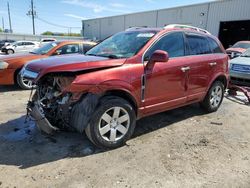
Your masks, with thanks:
M208 113L216 112L224 97L224 85L220 81L215 81L213 85L208 90L205 99L200 103L201 107Z

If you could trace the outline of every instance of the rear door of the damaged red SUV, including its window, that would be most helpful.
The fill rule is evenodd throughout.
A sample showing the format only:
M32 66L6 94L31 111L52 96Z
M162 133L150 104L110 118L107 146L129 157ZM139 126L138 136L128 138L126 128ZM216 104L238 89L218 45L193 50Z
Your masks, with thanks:
M205 35L186 33L188 46L188 89L187 102L198 101L206 93L216 66L215 56L212 53L208 39Z

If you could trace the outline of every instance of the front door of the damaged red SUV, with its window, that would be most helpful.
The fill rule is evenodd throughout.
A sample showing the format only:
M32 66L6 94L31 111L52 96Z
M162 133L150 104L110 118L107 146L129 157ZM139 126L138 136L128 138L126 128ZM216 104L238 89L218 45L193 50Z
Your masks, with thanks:
M145 54L144 60L156 50L168 52L169 61L155 63L151 71L146 73L145 113L153 114L186 102L187 74L183 67L188 66L185 56L183 33L174 32L160 38Z

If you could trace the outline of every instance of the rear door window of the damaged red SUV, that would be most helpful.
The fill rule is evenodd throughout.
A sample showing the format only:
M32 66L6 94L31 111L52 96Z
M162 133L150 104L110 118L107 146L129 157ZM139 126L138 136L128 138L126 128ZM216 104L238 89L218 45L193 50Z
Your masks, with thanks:
M201 55L212 53L209 43L205 37L190 34L188 34L186 37L189 45L189 55Z

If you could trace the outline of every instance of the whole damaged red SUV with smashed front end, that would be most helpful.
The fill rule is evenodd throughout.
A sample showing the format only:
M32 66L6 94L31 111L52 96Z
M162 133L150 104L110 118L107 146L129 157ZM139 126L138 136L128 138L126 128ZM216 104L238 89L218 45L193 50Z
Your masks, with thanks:
M216 111L228 84L228 56L198 28L131 28L86 55L32 61L21 76L37 85L28 112L41 131L85 131L95 145L112 149L142 117L197 102Z

